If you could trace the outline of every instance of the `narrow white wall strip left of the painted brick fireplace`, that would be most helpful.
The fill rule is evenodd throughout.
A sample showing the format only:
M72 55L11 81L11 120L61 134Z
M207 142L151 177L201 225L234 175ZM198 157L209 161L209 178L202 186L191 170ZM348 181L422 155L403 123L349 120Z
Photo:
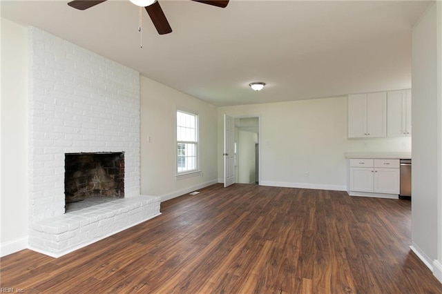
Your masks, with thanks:
M1 256L28 245L28 33L1 19Z

